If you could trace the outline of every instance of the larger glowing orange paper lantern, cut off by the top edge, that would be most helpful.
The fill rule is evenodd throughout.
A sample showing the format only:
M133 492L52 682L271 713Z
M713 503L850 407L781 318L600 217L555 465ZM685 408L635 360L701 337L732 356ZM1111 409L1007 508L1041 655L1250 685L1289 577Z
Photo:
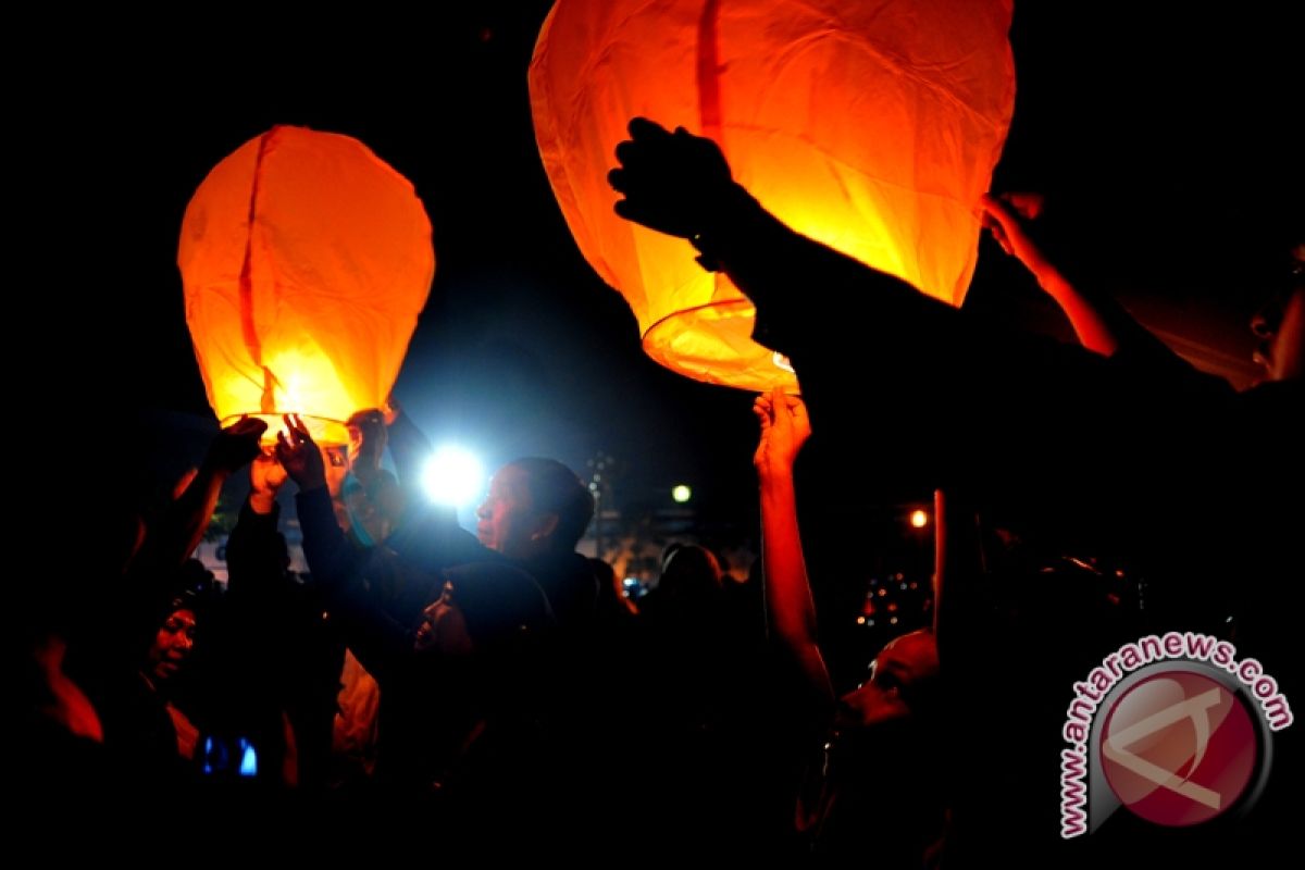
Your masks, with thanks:
M1014 106L1010 17L1010 0L557 0L530 67L535 136L647 353L714 383L792 386L726 277L612 213L630 117L715 140L786 224L959 305ZM792 290L843 316L820 286Z

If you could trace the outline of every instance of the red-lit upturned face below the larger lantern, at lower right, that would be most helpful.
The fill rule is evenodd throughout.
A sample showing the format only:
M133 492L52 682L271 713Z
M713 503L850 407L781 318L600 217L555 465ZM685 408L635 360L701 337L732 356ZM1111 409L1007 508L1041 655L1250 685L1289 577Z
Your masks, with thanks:
M912 633L891 640L870 665L869 678L839 699L838 728L869 728L911 715L912 693L938 673L933 635Z

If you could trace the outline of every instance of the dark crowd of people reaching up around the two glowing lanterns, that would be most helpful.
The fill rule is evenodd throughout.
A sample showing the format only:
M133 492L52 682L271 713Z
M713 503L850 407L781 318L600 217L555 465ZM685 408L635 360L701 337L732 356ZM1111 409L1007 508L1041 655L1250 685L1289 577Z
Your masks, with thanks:
M1066 275L1036 240L1034 197L976 209L1081 346L793 232L709 140L646 119L629 133L609 173L617 214L726 273L803 385L754 404L762 554L745 591L683 541L658 587L625 599L577 552L592 496L553 459L500 468L471 533L418 494L425 440L397 406L348 421L342 473L294 415L271 447L268 424L243 419L155 510L106 511L86 577L21 601L16 793L107 818L127 784L147 784L179 806L235 796L365 819L355 839L487 856L951 867L1288 843L1291 734L1237 819L1177 833L1112 820L1067 844L1056 817L1070 686L1121 643L1207 633L1285 697L1300 686L1305 249L1254 323L1263 381L1237 391ZM855 316L816 317L812 282ZM864 369L847 370L846 347ZM867 407L917 421L891 463ZM813 432L838 477L812 489L868 500L908 477L938 493L932 623L859 685L835 676L808 578L795 468ZM219 584L193 553L236 473L249 497ZM290 481L307 574L282 532ZM386 826L395 807L424 827Z

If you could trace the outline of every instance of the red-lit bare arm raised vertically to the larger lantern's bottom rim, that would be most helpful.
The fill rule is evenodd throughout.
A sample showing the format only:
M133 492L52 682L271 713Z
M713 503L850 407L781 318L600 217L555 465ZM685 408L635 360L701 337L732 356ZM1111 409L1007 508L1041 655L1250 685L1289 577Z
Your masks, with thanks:
M810 423L803 400L778 387L757 397L752 410L761 423L753 464L761 487L766 610L779 642L801 668L812 698L827 712L834 687L816 643L816 604L806 579L793 489L793 460L810 436Z

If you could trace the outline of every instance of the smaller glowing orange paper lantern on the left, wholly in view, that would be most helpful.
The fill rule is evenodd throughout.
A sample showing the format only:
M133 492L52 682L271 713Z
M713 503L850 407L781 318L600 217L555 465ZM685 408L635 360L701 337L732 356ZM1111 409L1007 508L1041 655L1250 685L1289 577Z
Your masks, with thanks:
M412 185L358 140L277 127L209 172L181 223L185 320L209 403L305 417L322 443L381 407L435 275Z

